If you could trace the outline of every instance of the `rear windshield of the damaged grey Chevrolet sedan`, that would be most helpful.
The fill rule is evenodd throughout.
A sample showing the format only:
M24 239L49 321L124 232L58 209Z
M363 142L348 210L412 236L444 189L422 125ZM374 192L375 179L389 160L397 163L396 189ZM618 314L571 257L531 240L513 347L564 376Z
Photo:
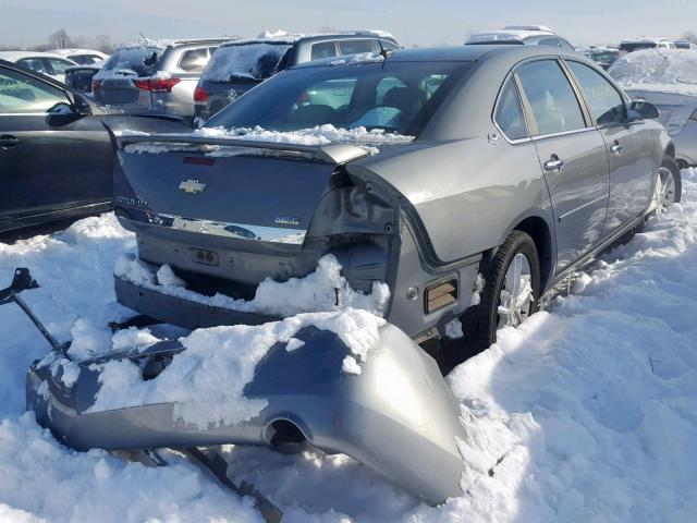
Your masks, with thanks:
M416 136L467 62L368 62L288 70L212 117L206 127L382 129Z

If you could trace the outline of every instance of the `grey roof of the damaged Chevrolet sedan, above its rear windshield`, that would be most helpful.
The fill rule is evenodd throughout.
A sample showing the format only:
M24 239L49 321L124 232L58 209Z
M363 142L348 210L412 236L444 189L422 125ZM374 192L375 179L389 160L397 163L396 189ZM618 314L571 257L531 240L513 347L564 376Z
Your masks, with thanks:
M509 57L512 62L534 57L572 57L583 58L582 54L564 51L553 46L509 46L501 44L484 44L478 46L430 47L417 49L395 49L389 51L389 62L475 62L493 56ZM322 60L299 63L291 69L335 66L375 61L379 53L363 53L348 57L333 57ZM362 60L364 59L364 60Z

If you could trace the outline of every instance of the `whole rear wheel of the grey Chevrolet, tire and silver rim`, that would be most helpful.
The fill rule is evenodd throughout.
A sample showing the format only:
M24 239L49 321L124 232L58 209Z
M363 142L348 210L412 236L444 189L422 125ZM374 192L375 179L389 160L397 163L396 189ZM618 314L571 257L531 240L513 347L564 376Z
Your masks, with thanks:
M504 327L517 327L537 311L540 263L533 239L513 231L499 247L481 293L475 342L479 350L497 341Z

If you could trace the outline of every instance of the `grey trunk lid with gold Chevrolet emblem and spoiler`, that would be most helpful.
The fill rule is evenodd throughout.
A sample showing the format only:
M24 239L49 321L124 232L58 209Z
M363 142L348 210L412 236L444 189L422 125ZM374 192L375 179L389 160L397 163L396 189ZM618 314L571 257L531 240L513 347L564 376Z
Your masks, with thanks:
M121 217L169 229L170 234L297 248L337 166L367 154L352 145L152 139L121 139L122 172L114 177Z

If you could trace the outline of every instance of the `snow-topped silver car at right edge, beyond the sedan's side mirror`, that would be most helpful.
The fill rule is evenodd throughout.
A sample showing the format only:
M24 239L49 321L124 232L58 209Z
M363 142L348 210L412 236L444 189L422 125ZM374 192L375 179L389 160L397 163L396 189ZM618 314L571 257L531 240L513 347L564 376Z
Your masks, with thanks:
M629 96L658 108L678 165L697 166L697 51L645 49L621 58L609 73Z

